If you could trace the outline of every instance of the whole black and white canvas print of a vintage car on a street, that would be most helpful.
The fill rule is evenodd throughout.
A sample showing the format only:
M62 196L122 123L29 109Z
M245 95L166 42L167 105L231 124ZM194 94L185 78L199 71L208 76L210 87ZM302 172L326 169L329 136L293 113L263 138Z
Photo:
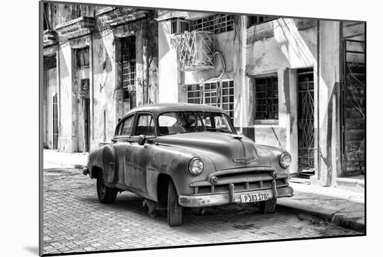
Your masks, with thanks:
M39 2L40 256L366 236L366 20L219 10Z

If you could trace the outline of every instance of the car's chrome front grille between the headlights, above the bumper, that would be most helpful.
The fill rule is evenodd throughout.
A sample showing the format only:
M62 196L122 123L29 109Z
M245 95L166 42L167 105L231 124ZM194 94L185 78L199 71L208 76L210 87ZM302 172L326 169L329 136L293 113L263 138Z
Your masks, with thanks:
M270 171L247 171L225 173L217 176L218 184L210 182L195 182L192 184L194 194L225 194L228 193L228 185L234 185L234 192L244 192L258 189L272 188L272 173ZM288 186L288 177L279 175L275 179L276 187Z

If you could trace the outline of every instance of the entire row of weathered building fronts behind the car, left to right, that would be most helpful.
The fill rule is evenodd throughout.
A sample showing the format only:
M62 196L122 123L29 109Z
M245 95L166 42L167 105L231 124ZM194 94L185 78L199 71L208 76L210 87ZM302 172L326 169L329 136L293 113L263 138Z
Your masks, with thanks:
M140 104L226 110L292 176L364 175L364 22L45 3L44 146L86 152Z

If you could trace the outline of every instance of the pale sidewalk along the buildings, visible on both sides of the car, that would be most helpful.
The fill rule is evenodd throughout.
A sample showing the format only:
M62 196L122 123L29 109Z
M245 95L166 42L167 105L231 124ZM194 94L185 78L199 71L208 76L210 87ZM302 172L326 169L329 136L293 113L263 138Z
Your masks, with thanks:
M86 165L87 153L60 153L44 150L44 169L59 167L82 169ZM332 221L338 226L365 231L364 192L307 185L290 181L295 195L291 198L279 198L278 205L298 213L306 213Z

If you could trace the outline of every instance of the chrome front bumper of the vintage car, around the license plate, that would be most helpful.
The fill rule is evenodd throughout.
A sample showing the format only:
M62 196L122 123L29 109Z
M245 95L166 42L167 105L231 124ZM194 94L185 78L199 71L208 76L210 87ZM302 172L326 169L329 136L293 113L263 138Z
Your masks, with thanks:
M279 187L272 189L260 189L244 192L233 192L229 190L226 194L206 194L201 196L179 196L178 203L184 207L205 207L214 205L226 205L230 203L241 203L241 194L255 194L267 192L268 198L291 197L294 195L292 187Z

